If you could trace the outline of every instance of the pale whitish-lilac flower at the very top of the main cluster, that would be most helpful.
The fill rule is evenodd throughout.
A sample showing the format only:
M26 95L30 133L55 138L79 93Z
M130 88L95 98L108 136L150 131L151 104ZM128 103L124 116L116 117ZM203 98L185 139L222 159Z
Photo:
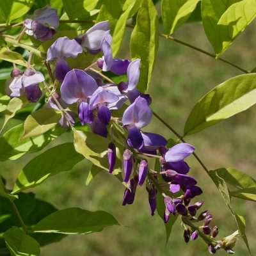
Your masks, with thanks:
M108 20L95 24L88 29L84 35L79 36L81 46L86 48L90 54L100 52L102 40L109 35L110 27Z

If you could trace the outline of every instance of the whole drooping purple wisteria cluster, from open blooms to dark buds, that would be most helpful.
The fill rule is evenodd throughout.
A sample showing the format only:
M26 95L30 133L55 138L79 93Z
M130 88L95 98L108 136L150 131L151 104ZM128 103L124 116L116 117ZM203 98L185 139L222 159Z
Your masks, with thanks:
M13 64L13 71L4 85L6 95L11 100L18 98L26 103L40 101L38 104L40 113L44 114L50 110L51 115L54 115L52 122L47 120L42 122L41 126L38 125L40 129L45 129L44 132L58 123L63 129L69 128L74 131L76 144L76 136L79 134L76 127L82 126L92 132L90 133L94 136L92 138L102 141L106 147L104 153L96 152L93 156L88 154L85 157L93 164L99 161L100 168L102 167L100 161L105 161L107 166L107 168L104 166L105 170L116 175L124 184L124 197L123 200L120 199L120 204L121 202L122 205L133 204L136 189L140 188L138 185L144 186L148 195L149 214L154 216L156 211L158 213L162 211L163 214L160 215L166 225L168 221L171 222L171 218L179 216L186 243L201 237L207 243L209 253L214 254L222 248L227 253L233 254L233 248L240 236L239 231L223 239L216 239L219 230L216 225L210 227L212 214L209 209L202 210L204 201L200 200L200 195L203 191L198 181L189 175L190 167L186 163L186 158L195 155L195 147L186 143L182 136L178 136L179 140L175 143L170 143L170 140L166 140L161 134L144 131L152 121L152 116L156 114L150 108L152 97L138 90L141 66L143 67L141 59L113 58L113 38L108 20L96 22L92 28L75 38L70 35L60 37L56 30L60 23L57 12L57 9L47 5L36 10L33 19L22 22L24 31L29 36L34 36L41 42L46 40L53 42L47 47L44 59L51 86L47 86L47 78L45 79L44 74L36 71L35 65L31 65L31 53L28 61L25 61L27 67L24 72ZM8 45L6 49L10 51ZM40 51L40 49L32 49ZM83 67L81 63L81 67L76 65L74 68L70 63L78 60L81 54L90 56L93 60L92 64ZM108 76L109 74L122 75L124 81L119 80L115 83ZM125 74L126 78L124 78ZM37 122L36 118L40 119L44 116L38 117L38 113L35 112L29 118L33 119L32 122L34 120ZM26 121L22 139L30 136L26 134ZM33 134L33 131L29 132ZM38 132L31 137L42 135L44 132ZM84 141L86 140L83 138L83 143L86 144ZM90 143L94 144L93 140ZM76 149L76 153L81 152ZM104 161L100 159L103 157L105 157ZM154 167L151 166L150 159L156 160ZM120 161L119 169L116 168L118 161ZM24 170L26 171L26 168ZM26 173L22 175L24 177ZM40 177L37 182L42 182L47 175L49 173ZM26 186L31 188L35 183L31 182ZM22 189L15 187L13 195ZM4 185L2 190L8 193L7 189L4 190ZM11 194L8 193L9 196ZM159 206L161 204L164 207ZM22 227L26 230L25 225ZM67 230L65 232L68 233ZM66 234L65 232L63 231L63 234Z

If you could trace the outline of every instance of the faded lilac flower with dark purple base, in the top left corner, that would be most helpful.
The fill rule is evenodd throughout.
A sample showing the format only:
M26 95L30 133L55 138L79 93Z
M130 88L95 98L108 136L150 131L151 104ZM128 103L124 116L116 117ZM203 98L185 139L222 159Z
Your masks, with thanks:
M35 10L33 19L26 19L24 21L24 26L27 28L26 33L34 35L36 39L42 42L52 39L54 33L56 33L53 28L58 28L59 26L60 19L57 12L58 10L51 8L50 4L47 4L42 9Z

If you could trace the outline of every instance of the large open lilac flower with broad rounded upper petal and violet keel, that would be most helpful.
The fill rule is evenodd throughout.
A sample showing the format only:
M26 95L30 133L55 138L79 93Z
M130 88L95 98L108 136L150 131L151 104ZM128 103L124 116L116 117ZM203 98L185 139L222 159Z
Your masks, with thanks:
M88 99L97 90L95 80L83 70L73 69L67 73L61 85L60 92L62 99L67 104L78 104L78 116L82 125L84 122L92 124L93 113L89 109Z

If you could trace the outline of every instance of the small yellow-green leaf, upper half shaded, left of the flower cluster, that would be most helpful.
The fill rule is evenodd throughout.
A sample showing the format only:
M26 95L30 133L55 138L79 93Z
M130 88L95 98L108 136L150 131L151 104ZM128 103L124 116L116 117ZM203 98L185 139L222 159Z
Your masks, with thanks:
M54 108L43 108L28 116L24 123L24 134L20 138L38 136L49 131L60 121L60 110Z

